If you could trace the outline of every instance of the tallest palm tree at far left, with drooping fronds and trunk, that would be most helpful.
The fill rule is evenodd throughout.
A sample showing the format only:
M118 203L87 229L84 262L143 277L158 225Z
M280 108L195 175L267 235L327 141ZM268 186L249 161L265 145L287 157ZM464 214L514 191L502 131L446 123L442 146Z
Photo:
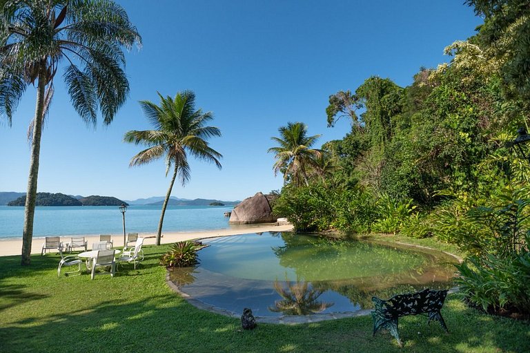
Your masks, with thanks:
M135 43L141 45L136 28L110 0L0 0L0 115L9 125L24 90L37 84L22 265L30 265L42 125L59 64L81 118L95 125L99 107L110 124L129 91L122 48Z

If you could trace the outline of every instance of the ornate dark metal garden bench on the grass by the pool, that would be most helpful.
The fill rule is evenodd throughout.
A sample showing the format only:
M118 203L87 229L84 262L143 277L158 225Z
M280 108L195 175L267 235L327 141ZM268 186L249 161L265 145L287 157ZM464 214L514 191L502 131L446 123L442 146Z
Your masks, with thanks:
M397 332L397 318L407 315L429 316L428 323L431 323L431 320L439 321L445 332L449 332L440 314L446 295L447 289L424 289L416 293L398 294L389 300L373 296L372 301L375 304L375 310L372 312L373 336L381 329L388 329L397 340L397 344L402 347L400 334Z

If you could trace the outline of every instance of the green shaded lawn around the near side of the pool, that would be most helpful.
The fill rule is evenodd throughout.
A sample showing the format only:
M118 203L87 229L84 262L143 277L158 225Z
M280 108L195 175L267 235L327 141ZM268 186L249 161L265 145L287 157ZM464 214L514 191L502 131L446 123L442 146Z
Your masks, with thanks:
M482 314L455 296L442 314L400 318L400 349L388 332L372 337L371 316L302 325L258 323L189 305L165 283L158 258L168 245L145 247L136 270L115 278L57 278L59 256L0 257L0 352L530 352L530 325ZM242 308L243 309L243 308Z

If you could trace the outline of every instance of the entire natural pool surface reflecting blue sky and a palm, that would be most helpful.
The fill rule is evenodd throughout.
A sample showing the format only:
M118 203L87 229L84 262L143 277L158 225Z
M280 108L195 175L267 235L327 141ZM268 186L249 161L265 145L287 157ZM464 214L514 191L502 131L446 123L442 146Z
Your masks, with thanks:
M448 288L455 259L440 251L293 233L204 240L200 265L175 269L182 292L208 305L257 316L353 312L429 287Z

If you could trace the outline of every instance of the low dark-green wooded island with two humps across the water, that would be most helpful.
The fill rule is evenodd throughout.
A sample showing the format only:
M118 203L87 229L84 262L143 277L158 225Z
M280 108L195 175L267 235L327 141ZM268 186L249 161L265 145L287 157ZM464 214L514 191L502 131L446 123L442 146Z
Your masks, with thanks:
M8 202L8 206L24 206L26 204L26 195ZM119 206L128 204L117 198L110 196L92 195L86 198L74 198L63 193L37 193L37 206Z

